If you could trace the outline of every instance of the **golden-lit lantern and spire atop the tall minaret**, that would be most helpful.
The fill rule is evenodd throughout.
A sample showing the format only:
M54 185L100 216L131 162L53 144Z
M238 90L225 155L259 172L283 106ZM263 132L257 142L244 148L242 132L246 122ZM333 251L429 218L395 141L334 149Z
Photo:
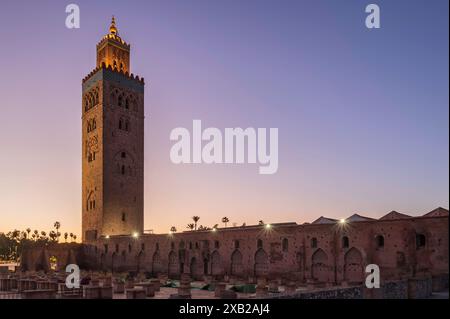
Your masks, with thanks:
M97 44L97 67L102 63L113 70L130 73L130 45L119 36L114 16L109 33Z

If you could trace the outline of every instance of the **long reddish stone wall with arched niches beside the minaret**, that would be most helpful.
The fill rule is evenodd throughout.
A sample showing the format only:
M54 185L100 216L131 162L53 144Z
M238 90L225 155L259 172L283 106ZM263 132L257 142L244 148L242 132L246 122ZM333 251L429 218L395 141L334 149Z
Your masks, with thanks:
M425 236L423 246L417 246L418 233ZM380 234L382 247L376 242ZM343 245L344 236L347 246ZM169 278L183 273L196 279L205 275L244 281L276 278L316 287L360 285L365 281L366 265L376 263L382 282L434 276L437 289L448 286L448 217L354 222L347 229L335 224L289 223L274 224L270 230L251 226L139 238L111 236L89 245L30 249L24 253L22 268L46 270L50 256L57 257L59 267L77 263L82 269L146 272ZM413 289L422 282L410 285ZM404 296L401 285L395 286L398 293L388 286L384 289L391 291L386 294L392 293L393 298Z

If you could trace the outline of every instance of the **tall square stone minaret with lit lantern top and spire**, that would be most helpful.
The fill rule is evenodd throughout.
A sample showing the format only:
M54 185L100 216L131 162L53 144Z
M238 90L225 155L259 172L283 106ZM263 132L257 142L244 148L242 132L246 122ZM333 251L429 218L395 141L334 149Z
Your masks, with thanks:
M144 224L144 79L113 17L83 79L82 236L134 235Z

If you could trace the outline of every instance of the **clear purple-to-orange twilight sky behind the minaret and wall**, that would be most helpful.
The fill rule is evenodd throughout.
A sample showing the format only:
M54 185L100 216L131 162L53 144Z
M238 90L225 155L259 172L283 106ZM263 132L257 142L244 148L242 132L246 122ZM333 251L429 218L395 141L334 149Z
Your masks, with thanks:
M72 2L78 30L68 1L0 7L0 231L79 234L81 79L113 14L146 79L145 229L448 208L447 0ZM278 172L172 164L193 119L279 128Z

